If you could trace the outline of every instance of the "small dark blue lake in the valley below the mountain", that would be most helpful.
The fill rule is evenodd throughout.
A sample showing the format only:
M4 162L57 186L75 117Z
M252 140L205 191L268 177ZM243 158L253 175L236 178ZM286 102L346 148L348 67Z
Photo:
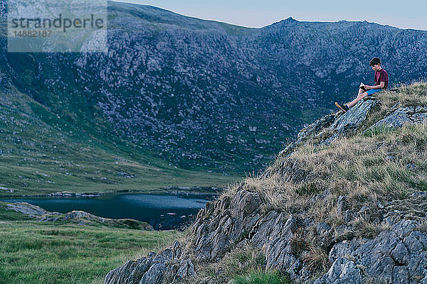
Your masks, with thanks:
M178 229L189 224L211 195L191 198L175 195L124 194L97 198L19 197L5 202L28 202L50 212L82 210L96 216L130 218L151 224L154 229Z

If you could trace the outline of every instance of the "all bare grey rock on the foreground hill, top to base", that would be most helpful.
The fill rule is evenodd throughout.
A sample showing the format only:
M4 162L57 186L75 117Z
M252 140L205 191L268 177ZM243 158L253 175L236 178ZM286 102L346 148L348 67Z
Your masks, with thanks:
M297 141L282 155L288 155L309 138L317 138L317 145L322 145L363 129L369 113L378 104L376 99L369 98L345 114L338 111L325 116L303 129ZM387 122L397 127L402 125L403 119L396 117L406 116L417 123L425 121L419 119L425 113L423 107L401 108L381 121L400 121ZM379 123L375 125L381 126ZM283 180L294 184L305 182L307 173L297 160L288 156L282 161L276 168L280 169L278 173ZM260 178L273 174L277 173L266 170ZM330 198L330 192L325 190L312 197L311 202L326 204ZM345 195L334 197L333 202L334 214L341 220L339 224L319 221L303 209L296 212L274 209L263 192L249 190L245 183L241 183L233 192L221 195L201 209L190 228L190 249L182 251L179 256L176 254L175 258L161 258L162 252L150 254L136 263L127 263L110 272L105 284L132 283L130 280L117 280L120 273L135 275L137 263L147 263L156 256L162 261L144 266L144 271L138 274L139 283L152 283L144 282L147 279L176 283L182 277L179 271L186 271L186 275L197 273L193 263L221 261L234 249L246 245L263 253L265 270L285 271L292 280L300 283L427 283L426 192L412 192L404 200L367 202L360 206L350 204L349 197ZM369 228L364 228L361 220L376 224L371 229L374 231L362 234L360 231L366 229L369 232ZM316 240L316 245L325 255L313 253L308 246L308 237ZM170 250L173 249L167 249ZM319 261L323 257L323 272L318 275L313 267L319 265L315 263L316 259Z

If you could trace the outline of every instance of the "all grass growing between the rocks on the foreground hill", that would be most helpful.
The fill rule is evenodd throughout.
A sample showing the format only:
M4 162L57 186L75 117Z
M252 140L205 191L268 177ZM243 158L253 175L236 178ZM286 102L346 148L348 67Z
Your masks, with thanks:
M233 198L242 189L258 192L265 214L271 210L283 212L283 220L292 214L301 224L327 224L332 231L340 225L349 226L352 238L360 239L373 239L390 229L381 222L379 208L407 212L407 216L419 220L426 210L426 200L417 200L414 196L420 194L413 193L427 192L427 124L405 124L394 129L371 126L399 107L427 107L427 84L411 84L381 92L377 97L378 107L357 131L329 145L320 144L318 136L308 138L307 143L290 155L278 155L265 174L247 177L230 187L220 200ZM328 129L322 131L324 135L332 134ZM346 222L338 208L339 197L346 198L351 212L369 213L357 214ZM426 225L418 230L426 231ZM301 225L292 233L290 253L302 258L313 275L325 273L332 264L328 258L330 241L320 239L314 225ZM335 234L342 233L337 230ZM185 283L206 283L206 279L227 283L232 278L237 283L261 283L254 279L264 270L265 260L262 252L248 245L233 248L221 261L207 268L204 263L196 266L199 269L196 280ZM270 273L260 275L264 279L271 277ZM282 281L276 279L270 283Z

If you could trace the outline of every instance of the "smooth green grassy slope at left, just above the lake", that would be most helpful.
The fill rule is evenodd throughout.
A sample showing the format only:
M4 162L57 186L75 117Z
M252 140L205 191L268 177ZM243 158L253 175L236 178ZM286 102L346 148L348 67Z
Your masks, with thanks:
M71 126L26 94L0 92L0 195L223 186L237 178L181 170L155 156Z

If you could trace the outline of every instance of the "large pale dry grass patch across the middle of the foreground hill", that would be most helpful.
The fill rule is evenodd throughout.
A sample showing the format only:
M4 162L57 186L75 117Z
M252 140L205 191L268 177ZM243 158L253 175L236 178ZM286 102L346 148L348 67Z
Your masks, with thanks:
M297 160L304 180L292 182L282 174L287 160ZM347 196L351 207L360 208L427 190L426 160L427 124L405 125L342 138L330 146L308 143L288 158L275 160L267 177L246 178L243 187L259 192L274 209L308 210L315 219L325 219L339 195ZM329 195L320 198L323 192Z

